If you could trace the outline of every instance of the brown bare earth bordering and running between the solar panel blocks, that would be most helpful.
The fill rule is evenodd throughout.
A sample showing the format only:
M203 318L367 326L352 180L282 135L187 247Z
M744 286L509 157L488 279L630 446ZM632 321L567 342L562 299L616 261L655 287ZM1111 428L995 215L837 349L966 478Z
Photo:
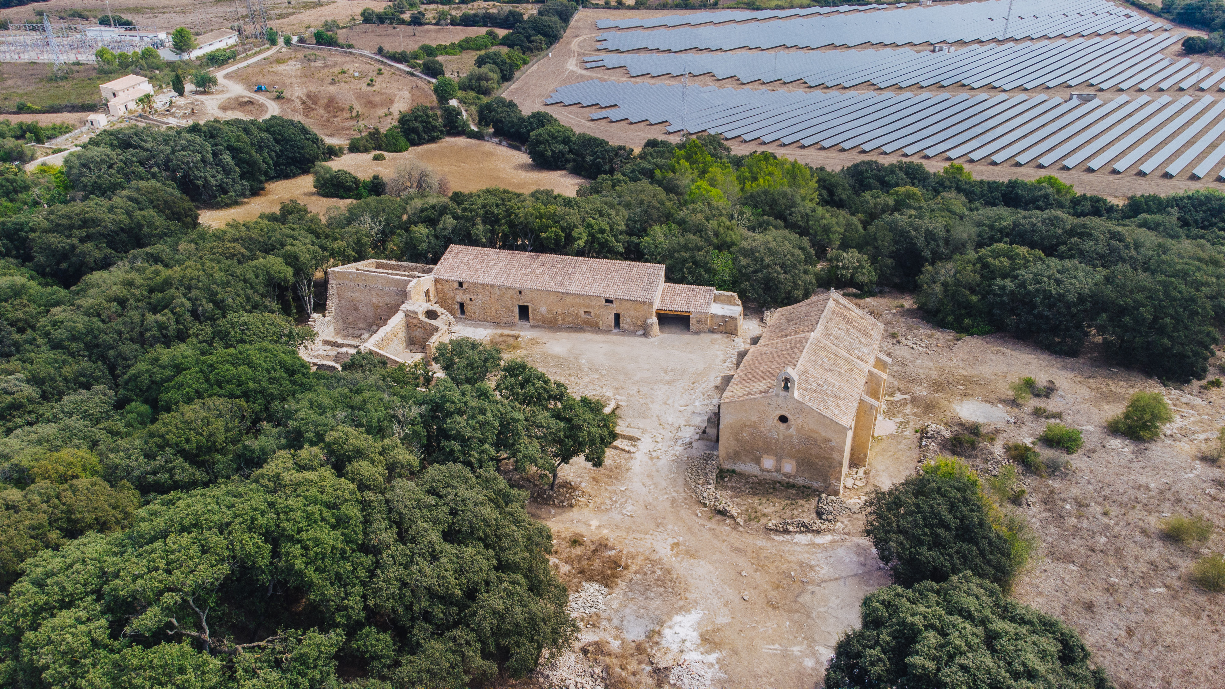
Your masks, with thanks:
M647 12L647 15L654 15L653 12ZM572 126L576 131L586 131L595 136L604 137L612 143L624 143L627 146L641 147L647 139L665 139L671 141L679 141L679 134L668 134L664 131L665 124L659 125L647 125L647 124L627 124L627 123L609 123L608 120L595 120L590 119L590 115L598 110L598 108L581 108L577 105L564 107L564 105L545 105L544 99L552 92L554 88L566 85L576 83L581 81L588 81L590 78L600 80L616 80L616 81L637 81L637 82L679 82L680 78L676 77L641 77L641 78L628 78L626 77L625 70L587 70L582 66L582 59L584 56L605 54L595 49L597 42L595 37L601 33L600 29L595 28L595 21L605 17L626 17L633 16L632 11L617 11L617 10L583 10L576 15L575 20L571 22L566 36L559 42L557 47L552 51L552 56L546 56L533 65L528 74L523 75L518 81L507 88L503 96L519 104L523 112L533 110L548 110L554 114L564 124ZM1180 31L1182 28L1180 27ZM1209 60L1210 64L1215 65L1214 61ZM1225 65L1225 63L1223 63ZM713 77L691 77L690 82L693 85L706 86L706 85L718 85L720 87L739 87L744 88L737 80L729 78L717 81ZM751 88L761 88L760 82L750 86ZM769 85L769 88L778 88L778 85ZM799 88L799 86L791 85L784 88ZM900 91L900 89L893 89ZM948 89L951 92L957 91L957 87ZM1051 96L1063 96L1071 92L1071 88L1052 88L1042 89L1042 93ZM1078 89L1080 91L1080 89ZM1035 94L1038 89L1029 92ZM1111 92L1114 93L1114 92ZM1202 97L1204 92L1188 92L1192 94L1198 94ZM1214 96L1215 98L1215 96ZM1194 120L1192 120L1194 121ZM1225 121L1225 115L1218 121ZM1187 126L1191 126L1189 124ZM1212 126L1212 125L1209 125ZM1186 129L1186 128L1185 128ZM1207 131L1208 128L1205 128ZM1172 139L1172 136L1171 136ZM949 163L949 161L941 156L938 158L925 159L921 157L903 158L898 154L882 154L880 152L873 153L853 153L849 151L835 151L833 148L821 151L816 147L800 148L799 145L791 146L761 146L760 143L745 143L739 140L726 142L731 150L736 153L751 153L753 151L767 150L774 152L779 156L789 157L811 166L824 166L829 169L839 169L842 167L853 164L864 159L876 159L881 163L892 163L897 161L909 161L921 163L931 170L940 170ZM1193 142L1188 142L1180 151L1174 152L1166 163L1176 159L1183 151L1189 148ZM1138 145L1137 145L1138 146ZM1225 185L1219 181L1214 181L1215 168L1213 173L1209 173L1209 178L1193 180L1189 179L1191 170L1196 167L1199 159L1205 158L1213 147L1202 152L1199 157L1188 164L1177 178L1165 178L1159 173L1154 173L1148 177L1143 177L1137 172L1138 166L1133 166L1125 174L1111 174L1105 169L1096 173L1088 172L1083 166L1079 169L1063 170L1052 168L1039 168L1038 162L1033 161L1028 166L1016 167L1012 164L996 166L990 162L969 163L964 158L958 161L967 166L967 168L978 178L982 179L998 179L1007 180L1013 178L1019 179L1036 179L1042 175L1055 174L1060 177L1068 184L1076 186L1077 191L1098 194L1114 200L1121 200L1133 194L1174 194L1183 190L1193 189L1223 189ZM1152 153L1150 153L1152 154ZM1145 158L1142 158L1147 159Z

